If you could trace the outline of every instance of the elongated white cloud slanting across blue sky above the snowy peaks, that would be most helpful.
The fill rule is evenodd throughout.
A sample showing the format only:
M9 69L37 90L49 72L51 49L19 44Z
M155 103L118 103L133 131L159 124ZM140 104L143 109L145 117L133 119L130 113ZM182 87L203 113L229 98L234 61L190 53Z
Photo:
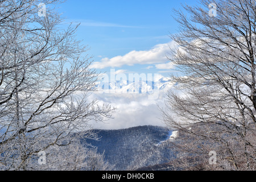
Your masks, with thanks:
M103 69L122 67L123 65L164 63L167 61L166 55L170 52L170 48L175 46L176 43L172 41L166 44L158 44L148 51L131 51L123 56L105 57L101 61L94 62L90 68Z

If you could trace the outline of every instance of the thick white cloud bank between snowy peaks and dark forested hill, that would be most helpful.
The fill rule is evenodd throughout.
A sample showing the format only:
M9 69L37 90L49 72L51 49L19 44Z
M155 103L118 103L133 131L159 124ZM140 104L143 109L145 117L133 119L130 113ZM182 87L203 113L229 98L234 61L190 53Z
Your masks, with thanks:
M166 92L160 94L165 96ZM92 122L93 127L113 130L143 125L165 126L158 108L158 105L164 106L162 96L159 100L148 100L147 94L94 93L99 104L110 104L117 107L117 111L113 114L113 119L109 119L106 123Z

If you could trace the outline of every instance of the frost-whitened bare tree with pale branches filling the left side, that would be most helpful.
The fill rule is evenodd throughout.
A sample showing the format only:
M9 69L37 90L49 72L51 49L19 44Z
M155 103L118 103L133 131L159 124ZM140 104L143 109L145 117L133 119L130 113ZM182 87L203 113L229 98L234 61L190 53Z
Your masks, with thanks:
M38 152L57 152L58 147L69 151L63 160L74 156L75 161L77 155L71 154L80 135L74 133L94 138L89 121L104 121L114 110L88 99L98 74L89 69L87 48L75 38L78 26L61 28L63 19L54 10L60 2L0 1L1 169L38 169ZM47 6L43 16L40 3Z

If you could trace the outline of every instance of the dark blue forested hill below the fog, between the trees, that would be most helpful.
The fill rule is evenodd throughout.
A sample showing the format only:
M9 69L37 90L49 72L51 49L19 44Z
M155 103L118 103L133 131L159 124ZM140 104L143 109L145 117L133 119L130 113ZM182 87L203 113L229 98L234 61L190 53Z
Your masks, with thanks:
M168 163L172 131L160 126L137 126L121 130L94 130L101 139L84 139L97 147L115 170L130 170Z

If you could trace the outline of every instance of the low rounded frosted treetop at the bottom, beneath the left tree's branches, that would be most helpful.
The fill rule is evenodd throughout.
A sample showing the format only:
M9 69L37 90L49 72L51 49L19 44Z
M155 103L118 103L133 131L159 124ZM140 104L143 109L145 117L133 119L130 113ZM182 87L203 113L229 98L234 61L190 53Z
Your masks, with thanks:
M84 147L80 140L71 140L72 143L67 146L49 147L39 159L31 160L27 168L40 171L110 171L113 169L105 160L104 154L98 154L97 148Z

